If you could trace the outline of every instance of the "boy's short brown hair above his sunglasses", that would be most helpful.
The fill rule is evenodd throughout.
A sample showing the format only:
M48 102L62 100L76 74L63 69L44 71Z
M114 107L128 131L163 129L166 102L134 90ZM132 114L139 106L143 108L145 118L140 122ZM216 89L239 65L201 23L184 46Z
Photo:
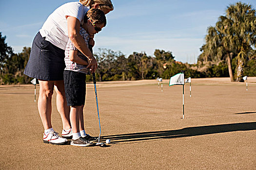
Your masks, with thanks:
M101 11L100 9L89 9L89 11L87 11L87 13L84 16L84 22L86 23L88 19L91 19L93 23L97 23L97 24L104 24L104 27L107 24L107 19L106 16L104 14L103 11Z

